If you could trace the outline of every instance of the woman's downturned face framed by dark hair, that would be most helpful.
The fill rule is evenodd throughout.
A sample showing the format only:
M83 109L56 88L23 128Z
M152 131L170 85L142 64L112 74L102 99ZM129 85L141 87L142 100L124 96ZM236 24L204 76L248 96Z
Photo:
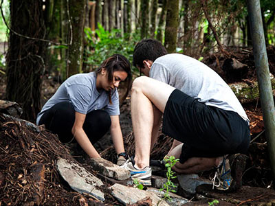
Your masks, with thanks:
M113 72L113 81L109 82L108 80L108 73L105 69L102 69L104 74L102 75L102 82L101 87L105 91L111 91L115 89L115 87L118 87L121 81L124 81L127 78L126 71L114 71Z

